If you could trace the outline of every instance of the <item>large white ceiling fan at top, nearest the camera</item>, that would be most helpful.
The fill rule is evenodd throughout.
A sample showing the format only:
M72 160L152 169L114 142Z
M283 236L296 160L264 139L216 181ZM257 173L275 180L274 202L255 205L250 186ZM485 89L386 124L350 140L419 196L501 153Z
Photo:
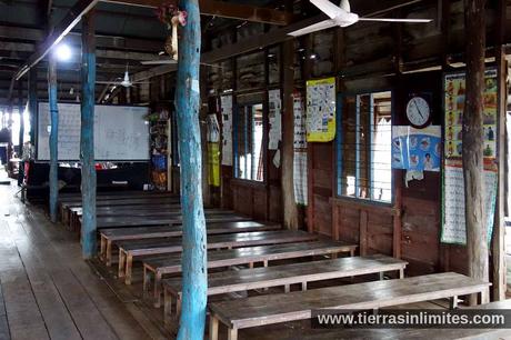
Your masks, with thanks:
M349 0L341 0L340 6L335 6L329 0L309 0L324 12L330 19L311 24L303 29L288 33L292 37L300 37L312 32L321 31L335 26L348 27L359 21L383 21L383 22L409 22L421 23L431 22L432 19L393 19L393 18L361 18L357 13L351 12Z

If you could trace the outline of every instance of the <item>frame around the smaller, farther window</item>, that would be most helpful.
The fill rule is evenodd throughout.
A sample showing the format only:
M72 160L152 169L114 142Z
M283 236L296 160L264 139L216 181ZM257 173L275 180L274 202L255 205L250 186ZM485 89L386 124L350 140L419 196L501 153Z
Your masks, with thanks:
M267 96L268 97L268 96ZM261 150L262 150L262 181L258 181L254 179L244 179L240 178L240 169L239 169L239 153L238 153L238 124L239 124L239 119L240 119L240 109L241 108L247 108L247 107L253 107L257 104L262 104L262 143L261 143ZM251 184L261 184L265 186L268 183L268 98L264 100L254 100L254 101L248 101L243 103L239 103L236 101L233 104L233 119L232 119L232 154L233 154L233 180L234 181L241 181L244 183L251 183Z

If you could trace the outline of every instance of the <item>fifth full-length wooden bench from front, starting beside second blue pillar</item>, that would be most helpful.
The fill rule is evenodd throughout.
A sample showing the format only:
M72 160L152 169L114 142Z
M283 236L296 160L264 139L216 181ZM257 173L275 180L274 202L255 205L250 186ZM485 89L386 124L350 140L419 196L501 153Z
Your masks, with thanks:
M248 231L270 231L281 228L280 224L261 223L255 221L241 222L207 222L207 233L237 233ZM156 239L166 237L182 236L181 226L153 226L153 227L132 227L132 228L113 228L101 229L101 252L100 258L107 266L112 263L112 247L116 242L127 240Z

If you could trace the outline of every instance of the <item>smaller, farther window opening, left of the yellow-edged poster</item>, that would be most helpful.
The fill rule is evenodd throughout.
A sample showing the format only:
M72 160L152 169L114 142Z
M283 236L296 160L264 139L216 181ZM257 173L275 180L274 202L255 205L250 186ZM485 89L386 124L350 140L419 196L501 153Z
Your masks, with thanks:
M239 107L236 123L236 177L262 182L264 180L262 103Z

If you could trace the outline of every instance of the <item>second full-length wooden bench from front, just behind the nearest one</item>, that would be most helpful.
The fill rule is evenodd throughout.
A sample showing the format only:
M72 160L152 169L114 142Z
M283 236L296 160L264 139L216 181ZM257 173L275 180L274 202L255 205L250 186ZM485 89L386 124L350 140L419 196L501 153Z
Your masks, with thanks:
M262 267L253 269L232 270L227 272L211 273L208 276L208 296L224 294L251 289L261 289L283 286L284 291L290 291L290 284L299 283L302 290L307 290L308 282L330 279L349 278L399 271L403 278L408 262L391 257L375 254L371 257L351 257L332 260L292 263L275 267ZM163 287L163 317L169 323L172 311L172 302L176 301L176 316L181 311L182 280L172 278L162 281Z

